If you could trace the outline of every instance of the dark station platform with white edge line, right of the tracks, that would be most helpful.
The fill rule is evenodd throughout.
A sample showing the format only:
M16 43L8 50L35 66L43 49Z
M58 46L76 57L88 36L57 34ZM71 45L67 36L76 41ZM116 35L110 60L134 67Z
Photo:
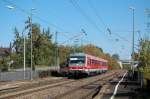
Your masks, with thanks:
M132 79L130 72L126 72L124 76L112 79L104 85L98 96L99 99L141 99L139 94L141 91L141 81ZM98 99L95 98L95 99Z

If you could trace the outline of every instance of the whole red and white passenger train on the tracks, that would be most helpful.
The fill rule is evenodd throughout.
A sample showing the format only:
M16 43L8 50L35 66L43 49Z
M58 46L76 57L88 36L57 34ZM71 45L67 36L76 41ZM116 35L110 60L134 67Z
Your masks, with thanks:
M74 53L69 57L69 74L102 73L109 69L108 61L85 53Z

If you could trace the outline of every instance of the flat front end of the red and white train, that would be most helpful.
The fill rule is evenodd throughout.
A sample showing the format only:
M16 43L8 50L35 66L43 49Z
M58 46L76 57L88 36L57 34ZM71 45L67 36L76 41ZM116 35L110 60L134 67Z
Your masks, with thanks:
M73 76L86 75L86 55L84 53L71 54L69 57L69 74Z

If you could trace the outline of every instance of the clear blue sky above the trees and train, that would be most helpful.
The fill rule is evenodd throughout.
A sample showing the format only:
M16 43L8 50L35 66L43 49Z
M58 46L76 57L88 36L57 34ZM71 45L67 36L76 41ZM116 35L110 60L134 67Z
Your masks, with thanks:
M117 53L121 59L129 59L132 51L131 6L135 8L136 50L139 38L145 33L147 16L144 10L150 8L150 0L0 0L0 46L8 47L14 40L15 27L22 32L34 8L33 23L40 24L41 29L49 27L53 34L58 32L59 44L94 44L106 53ZM70 39L76 36L78 42L75 38Z

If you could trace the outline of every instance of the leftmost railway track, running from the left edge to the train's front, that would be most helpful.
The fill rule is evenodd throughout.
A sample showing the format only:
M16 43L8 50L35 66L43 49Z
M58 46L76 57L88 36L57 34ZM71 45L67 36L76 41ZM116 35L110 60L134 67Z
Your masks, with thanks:
M5 84L3 87L0 88L0 99L3 99L5 97L3 96L9 96L9 95L15 95L16 93L21 94L25 90L34 89L37 87L42 87L46 85L52 85L52 84L63 84L63 83L69 83L72 80L67 81L64 78L60 79L46 79L46 80L38 80L38 81L25 81L25 82L18 82L16 84ZM59 82L59 83L58 83ZM5 87L6 86L6 87ZM25 92L24 92L25 94ZM16 95L15 95L16 96Z

